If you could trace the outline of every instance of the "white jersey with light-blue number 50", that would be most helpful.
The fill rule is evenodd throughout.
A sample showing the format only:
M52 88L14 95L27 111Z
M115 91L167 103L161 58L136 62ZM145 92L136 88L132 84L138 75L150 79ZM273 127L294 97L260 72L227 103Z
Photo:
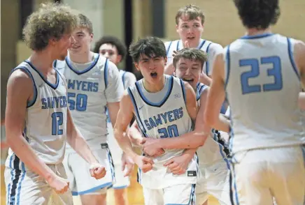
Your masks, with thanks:
M118 68L109 70L109 63L108 59L99 54L94 54L94 60L90 63L73 63L69 56L65 61L55 61L57 70L66 77L73 121L92 150L101 149L101 144L107 140L108 73L113 72L113 75L119 76ZM113 95L120 93L119 96L122 96L122 82L117 89ZM68 152L73 151L69 146L67 148Z

